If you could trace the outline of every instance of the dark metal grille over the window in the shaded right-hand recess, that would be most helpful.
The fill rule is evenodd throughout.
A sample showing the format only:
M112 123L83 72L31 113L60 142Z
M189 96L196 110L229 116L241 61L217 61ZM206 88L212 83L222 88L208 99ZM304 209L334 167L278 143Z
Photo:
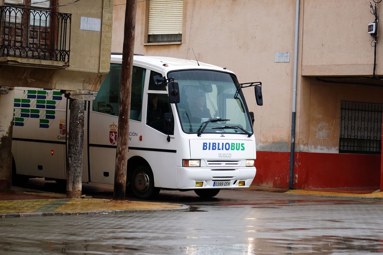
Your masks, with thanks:
M340 102L339 153L381 154L382 106Z

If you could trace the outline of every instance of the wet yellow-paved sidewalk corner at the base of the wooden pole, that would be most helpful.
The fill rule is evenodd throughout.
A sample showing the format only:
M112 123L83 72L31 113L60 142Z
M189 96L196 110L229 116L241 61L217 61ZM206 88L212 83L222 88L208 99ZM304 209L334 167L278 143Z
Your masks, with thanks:
M12 187L0 193L0 218L79 214L115 214L137 211L189 210L190 206L147 201L66 199L63 194Z

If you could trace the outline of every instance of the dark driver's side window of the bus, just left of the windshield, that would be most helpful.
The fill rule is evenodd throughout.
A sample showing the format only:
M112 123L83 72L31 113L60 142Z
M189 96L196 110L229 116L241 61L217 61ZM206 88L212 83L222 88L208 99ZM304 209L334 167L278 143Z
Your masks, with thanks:
M146 125L167 134L167 123L164 121L165 113L167 112L173 114L169 96L167 94L149 93L147 99ZM169 124L169 135L174 134L174 116L172 119L172 123Z

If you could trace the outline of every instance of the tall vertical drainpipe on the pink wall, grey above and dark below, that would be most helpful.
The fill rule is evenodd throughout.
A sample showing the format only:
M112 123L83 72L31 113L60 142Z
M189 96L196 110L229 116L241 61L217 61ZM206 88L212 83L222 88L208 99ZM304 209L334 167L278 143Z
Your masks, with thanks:
M294 79L293 79L293 110L291 114L291 145L290 145L290 181L289 188L293 188L294 177L294 151L295 151L295 112L296 112L296 78L298 75L298 33L299 33L299 7L300 0L296 0L295 10L295 43L294 43Z

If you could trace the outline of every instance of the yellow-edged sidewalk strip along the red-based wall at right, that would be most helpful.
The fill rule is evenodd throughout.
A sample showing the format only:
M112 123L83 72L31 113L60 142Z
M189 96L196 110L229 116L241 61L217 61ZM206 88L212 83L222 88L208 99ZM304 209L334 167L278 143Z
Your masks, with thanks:
M367 198L367 199L383 199L383 192L378 188L320 188L307 190L288 190L283 188L265 188L251 186L243 188L245 190L257 190L263 192L277 192L285 194L299 195L316 195L320 197L346 197L346 198Z

